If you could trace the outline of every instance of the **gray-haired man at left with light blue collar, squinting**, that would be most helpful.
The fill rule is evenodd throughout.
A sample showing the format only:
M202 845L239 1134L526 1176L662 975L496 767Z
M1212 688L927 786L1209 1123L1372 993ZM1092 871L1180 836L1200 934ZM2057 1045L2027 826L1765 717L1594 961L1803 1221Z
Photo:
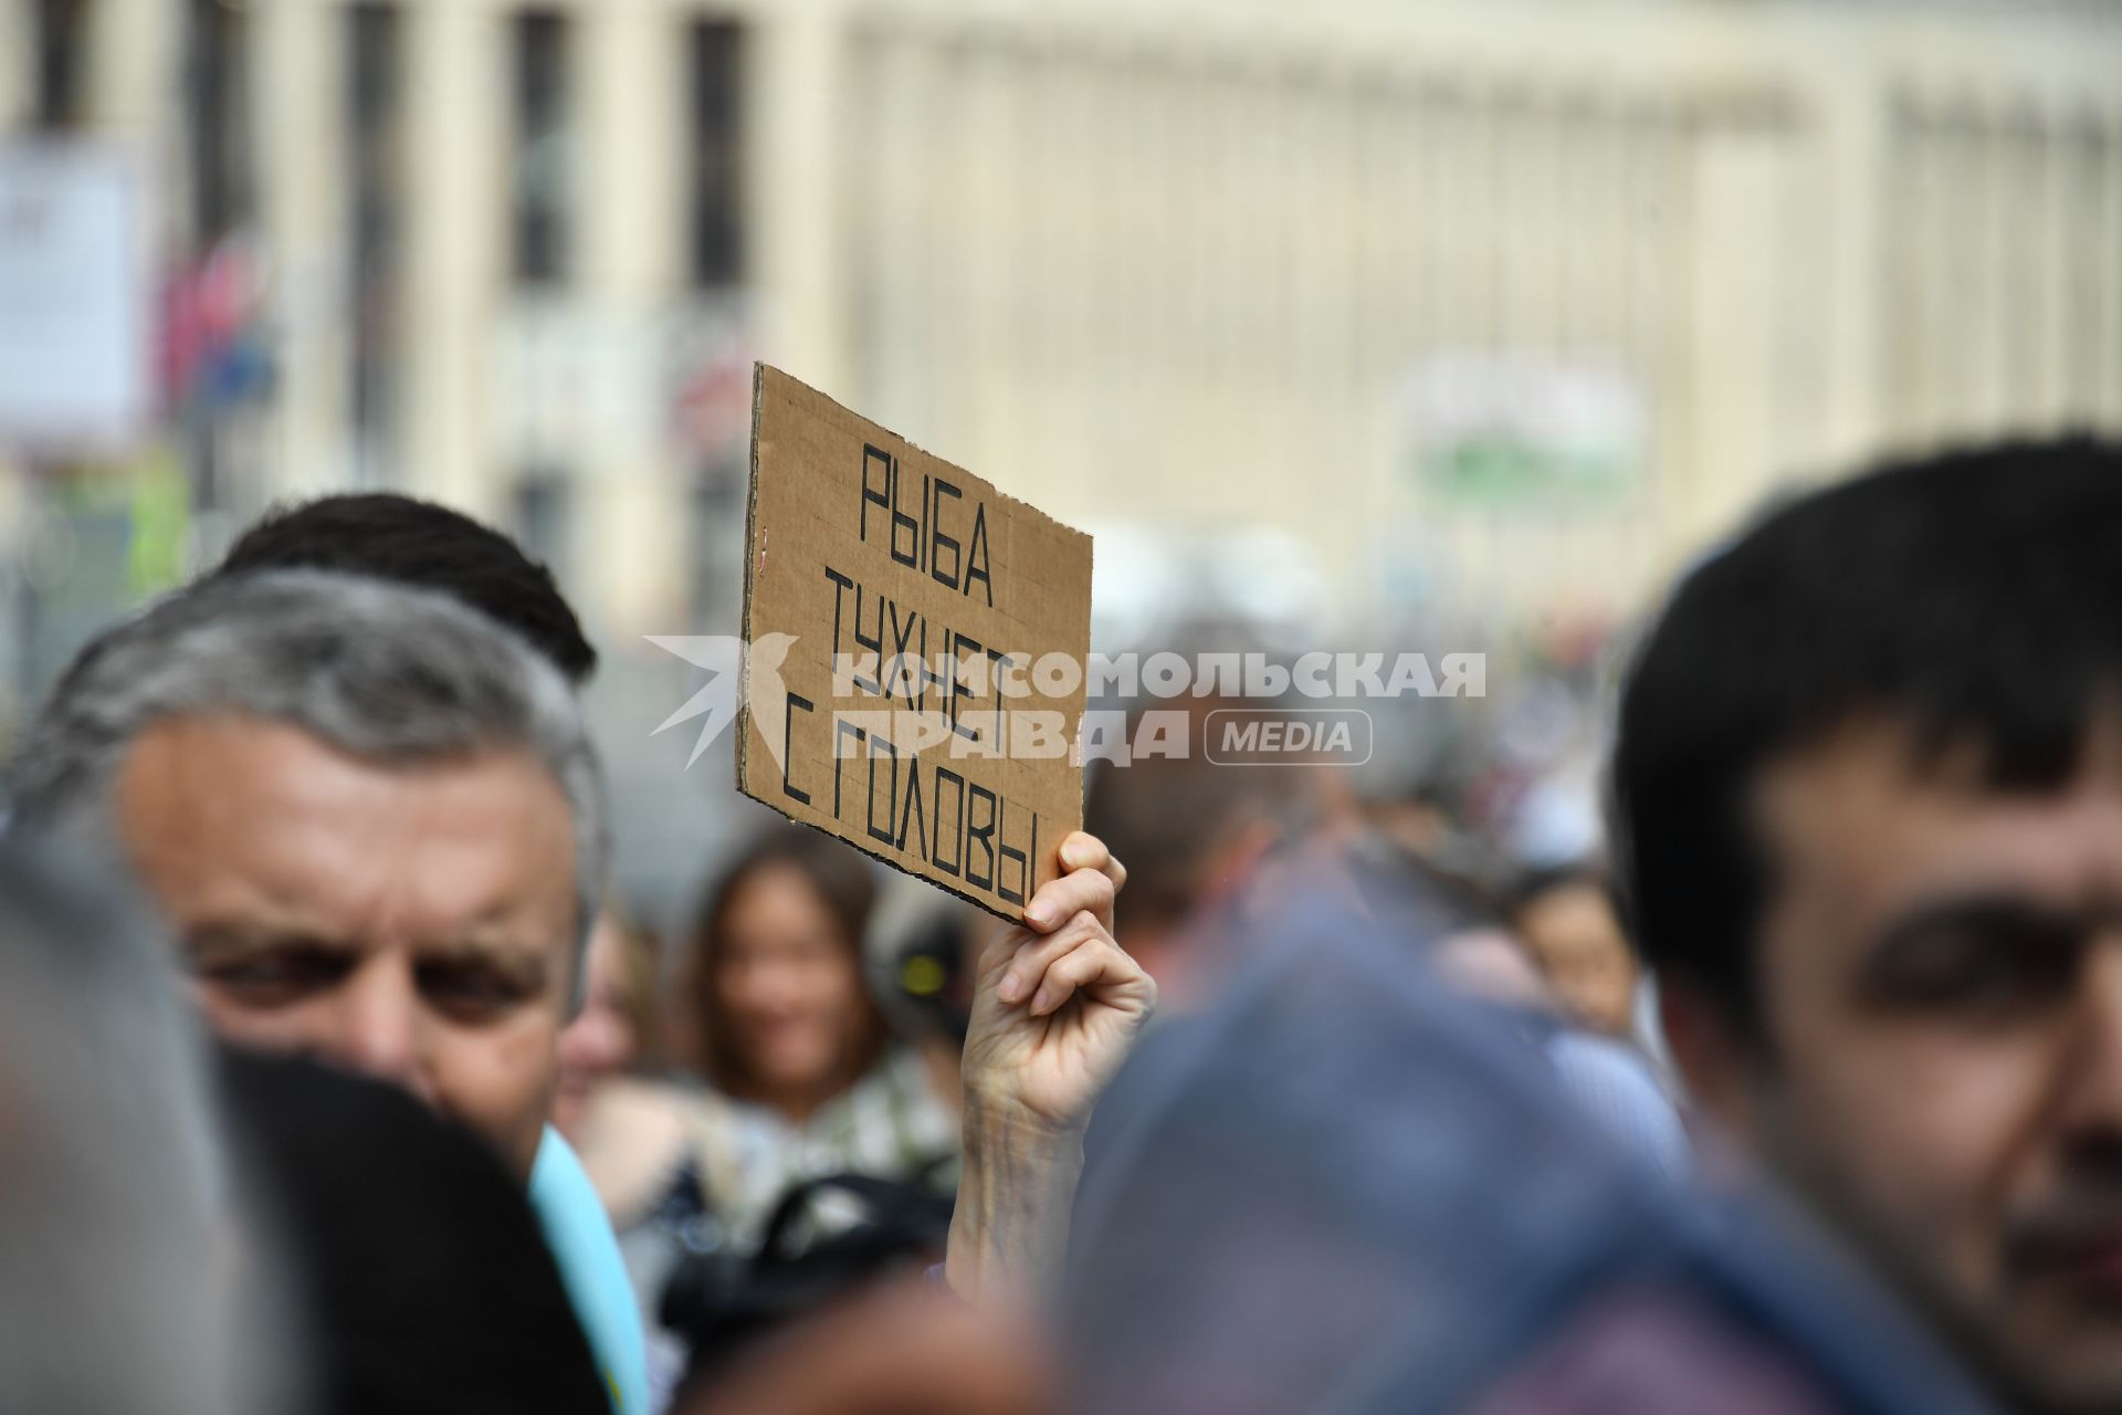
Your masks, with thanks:
M615 1241L545 1126L607 853L552 664L424 590L212 579L74 660L8 785L13 825L138 876L225 1040L482 1135L528 1186L615 1409L647 1407Z

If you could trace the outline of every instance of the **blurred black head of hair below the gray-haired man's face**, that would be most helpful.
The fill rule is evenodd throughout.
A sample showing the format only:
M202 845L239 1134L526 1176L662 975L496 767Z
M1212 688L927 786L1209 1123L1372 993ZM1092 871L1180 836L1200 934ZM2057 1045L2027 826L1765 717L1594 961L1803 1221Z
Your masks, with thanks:
M318 1415L607 1415L552 1250L469 1131L386 1082L219 1048L248 1211L284 1245Z

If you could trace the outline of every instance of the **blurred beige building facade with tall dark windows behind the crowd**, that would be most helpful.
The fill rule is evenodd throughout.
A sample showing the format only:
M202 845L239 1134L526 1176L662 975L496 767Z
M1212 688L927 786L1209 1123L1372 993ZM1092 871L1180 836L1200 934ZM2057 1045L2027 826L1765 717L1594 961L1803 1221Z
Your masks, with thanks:
M0 0L0 142L146 176L163 401L0 441L0 677L437 496L683 866L639 634L736 624L755 356L1099 532L1101 613L1625 613L1787 482L2122 433L2118 74L2090 0Z

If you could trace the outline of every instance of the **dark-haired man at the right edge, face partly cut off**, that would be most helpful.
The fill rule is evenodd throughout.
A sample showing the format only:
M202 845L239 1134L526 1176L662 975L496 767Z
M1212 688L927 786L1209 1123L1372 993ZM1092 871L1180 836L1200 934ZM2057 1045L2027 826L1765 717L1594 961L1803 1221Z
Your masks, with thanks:
M2122 448L1789 505L1621 702L1615 825L1698 1099L2022 1409L2122 1409Z

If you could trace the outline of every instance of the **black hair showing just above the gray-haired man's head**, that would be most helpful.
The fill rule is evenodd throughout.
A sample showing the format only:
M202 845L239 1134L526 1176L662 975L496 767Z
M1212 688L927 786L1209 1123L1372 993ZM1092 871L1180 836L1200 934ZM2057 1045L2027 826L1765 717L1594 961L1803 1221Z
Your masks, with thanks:
M552 571L516 541L460 511L397 492L346 492L278 507L257 520L214 575L348 571L437 590L522 634L581 685L596 649Z

